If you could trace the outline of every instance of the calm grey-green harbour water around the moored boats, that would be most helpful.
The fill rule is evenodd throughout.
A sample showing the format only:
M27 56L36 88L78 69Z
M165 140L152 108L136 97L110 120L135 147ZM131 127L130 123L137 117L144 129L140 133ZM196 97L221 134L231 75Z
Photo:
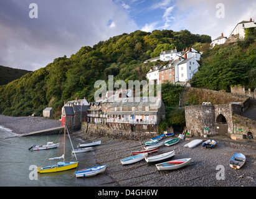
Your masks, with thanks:
M38 174L37 180L30 180L29 170L31 165L55 164L58 160L46 160L50 157L59 157L63 154L64 135L50 136L25 136L5 139L6 136L14 134L2 126L0 126L0 186L103 186L103 183L111 182L106 174L96 175L90 178L76 178L75 170L95 167L97 164L94 159L94 150L76 154L78 159L77 169L67 170L64 172L56 172L52 174ZM82 140L71 137L74 149L77 149L78 143ZM60 146L49 150L28 150L32 144L47 144L47 141L60 142ZM75 157L71 155L72 146L69 136L66 134L65 160L74 161ZM71 157L71 159L70 159ZM59 160L62 161L62 160ZM111 186L108 185L108 186Z

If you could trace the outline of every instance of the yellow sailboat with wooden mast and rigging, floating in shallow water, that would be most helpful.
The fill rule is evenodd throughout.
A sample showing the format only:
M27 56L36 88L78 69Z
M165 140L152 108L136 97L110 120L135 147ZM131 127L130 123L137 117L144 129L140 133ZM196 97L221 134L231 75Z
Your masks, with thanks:
M64 125L65 126L65 125ZM67 133L69 135L69 130L67 129ZM62 172L64 170L74 169L78 165L78 161L75 162L65 162L65 137L66 137L66 126L64 127L64 154L60 157L53 157L49 160L63 159L63 162L57 162L57 164L49 165L45 167L37 167L37 172L40 174L44 173L52 173L52 172ZM69 136L70 139L70 136ZM73 149L73 145L70 139L70 143ZM77 156L75 155L75 159L77 160Z

